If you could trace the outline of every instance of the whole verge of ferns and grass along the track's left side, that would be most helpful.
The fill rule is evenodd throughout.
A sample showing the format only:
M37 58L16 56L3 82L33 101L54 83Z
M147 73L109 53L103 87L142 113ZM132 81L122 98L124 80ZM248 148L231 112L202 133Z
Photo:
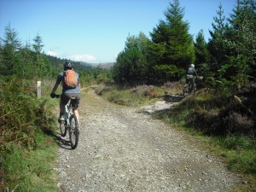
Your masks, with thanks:
M56 191L56 148L51 136L57 100L42 89L37 99L29 81L5 79L0 90L0 190ZM22 83L20 83L22 82Z

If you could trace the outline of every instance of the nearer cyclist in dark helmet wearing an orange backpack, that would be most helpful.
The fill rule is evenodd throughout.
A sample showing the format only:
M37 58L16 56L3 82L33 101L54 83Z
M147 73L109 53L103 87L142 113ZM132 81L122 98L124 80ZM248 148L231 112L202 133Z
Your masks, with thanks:
M79 73L73 71L73 65L71 62L67 61L63 65L64 71L59 73L56 83L51 91L50 96L53 98L55 97L55 91L57 90L59 84L62 84L62 93L61 93L61 102L60 102L60 117L59 121L65 120L64 113L65 113L65 105L71 98L72 106L74 108L73 112L76 114L77 119L79 121L79 102L80 102L80 80L79 80ZM71 73L70 77L68 75ZM72 76L73 74L73 76ZM75 83L73 86L67 84L67 79L75 79Z

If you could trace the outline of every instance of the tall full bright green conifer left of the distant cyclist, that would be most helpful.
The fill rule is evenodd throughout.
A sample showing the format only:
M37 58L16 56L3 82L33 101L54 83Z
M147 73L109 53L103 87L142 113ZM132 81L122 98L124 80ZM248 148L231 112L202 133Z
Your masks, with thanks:
M150 33L153 74L158 83L180 79L189 64L195 61L193 38L183 15L184 9L174 0L166 9L166 20L160 20Z

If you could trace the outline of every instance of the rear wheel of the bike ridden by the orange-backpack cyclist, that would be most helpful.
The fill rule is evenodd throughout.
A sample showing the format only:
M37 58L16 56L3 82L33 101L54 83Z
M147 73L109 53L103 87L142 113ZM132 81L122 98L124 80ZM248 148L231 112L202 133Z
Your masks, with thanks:
M69 138L71 143L71 148L77 148L79 144L79 122L76 115L71 115L70 117L70 129Z

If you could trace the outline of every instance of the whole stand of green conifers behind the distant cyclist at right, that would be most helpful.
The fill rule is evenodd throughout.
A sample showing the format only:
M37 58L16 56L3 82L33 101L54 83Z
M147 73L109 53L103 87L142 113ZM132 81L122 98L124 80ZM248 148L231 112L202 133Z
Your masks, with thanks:
M113 67L116 82L163 84L184 78L186 68L195 63L206 86L232 86L240 89L255 81L256 19L255 2L237 0L230 18L220 4L212 22L211 38L198 32L193 42L189 22L183 20L179 1L170 3L166 20L150 32L126 39Z

